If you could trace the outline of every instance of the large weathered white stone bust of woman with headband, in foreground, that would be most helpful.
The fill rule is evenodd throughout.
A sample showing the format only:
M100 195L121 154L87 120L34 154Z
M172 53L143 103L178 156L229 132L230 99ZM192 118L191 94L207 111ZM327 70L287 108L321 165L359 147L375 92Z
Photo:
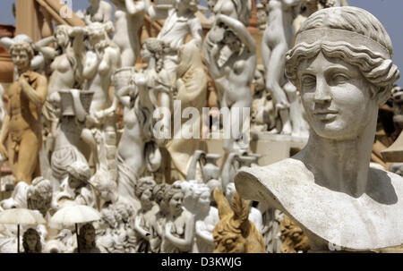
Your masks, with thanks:
M308 143L294 157L236 175L242 197L292 217L312 250L403 243L403 179L369 167L378 108L399 79L392 51L381 22L363 9L313 13L286 64L301 92Z

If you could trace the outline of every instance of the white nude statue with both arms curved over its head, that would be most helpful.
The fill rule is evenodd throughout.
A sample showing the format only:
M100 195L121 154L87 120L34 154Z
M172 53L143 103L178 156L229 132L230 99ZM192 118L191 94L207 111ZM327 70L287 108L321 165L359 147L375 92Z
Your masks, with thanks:
M256 44L244 27L244 24L226 15L218 15L216 25L225 29L224 37L219 43L210 47L206 40L203 54L211 78L219 94L221 107L227 107L231 116L231 136L223 140L227 152L244 152L249 148L249 141L244 136L245 125L249 115L244 115L244 108L252 106L251 83L256 67ZM224 64L219 64L219 53L227 46L231 55Z

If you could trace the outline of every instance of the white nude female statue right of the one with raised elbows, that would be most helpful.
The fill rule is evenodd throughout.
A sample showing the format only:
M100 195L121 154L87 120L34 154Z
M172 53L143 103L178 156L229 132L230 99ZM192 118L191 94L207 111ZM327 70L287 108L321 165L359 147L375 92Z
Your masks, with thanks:
M109 97L111 77L120 67L119 48L110 40L113 31L111 22L94 22L87 26L90 49L85 57L83 77L87 80L85 90L94 92L90 102L90 114L86 117L87 128L81 138L92 150L96 171L110 173L116 179L116 127L115 110L117 99Z

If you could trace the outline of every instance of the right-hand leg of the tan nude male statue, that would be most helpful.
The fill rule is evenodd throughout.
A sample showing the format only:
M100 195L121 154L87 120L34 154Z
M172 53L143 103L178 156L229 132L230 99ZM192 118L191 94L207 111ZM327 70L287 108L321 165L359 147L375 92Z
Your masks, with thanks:
M32 181L32 176L39 163L40 143L38 136L33 131L27 130L22 134L18 153L18 171L15 175L17 182L30 184Z

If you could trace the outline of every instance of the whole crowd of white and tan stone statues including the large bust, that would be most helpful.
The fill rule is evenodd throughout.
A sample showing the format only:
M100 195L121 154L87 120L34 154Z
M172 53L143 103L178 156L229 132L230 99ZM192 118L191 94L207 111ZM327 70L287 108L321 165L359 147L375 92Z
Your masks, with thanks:
M115 24L112 6L91 0L79 13L85 27L58 25L35 43L25 35L1 40L16 74L0 133L15 185L1 209L29 208L48 219L84 205L101 216L52 236L44 225L24 227L25 252L296 252L403 243L395 231L401 177L369 167L378 108L399 78L390 38L372 14L329 0L261 1L258 65L247 28L252 0L208 1L205 37L198 0L112 2ZM156 38L141 41L145 15L165 22ZM221 168L220 156L188 134L206 125L209 76L232 131ZM401 131L399 90L394 121ZM189 107L198 116L171 127L171 116L189 117ZM259 166L244 108L252 109L256 129L309 136L306 147ZM157 177L167 158L161 148L176 170L168 180ZM0 251L14 251L14 232L0 228Z

